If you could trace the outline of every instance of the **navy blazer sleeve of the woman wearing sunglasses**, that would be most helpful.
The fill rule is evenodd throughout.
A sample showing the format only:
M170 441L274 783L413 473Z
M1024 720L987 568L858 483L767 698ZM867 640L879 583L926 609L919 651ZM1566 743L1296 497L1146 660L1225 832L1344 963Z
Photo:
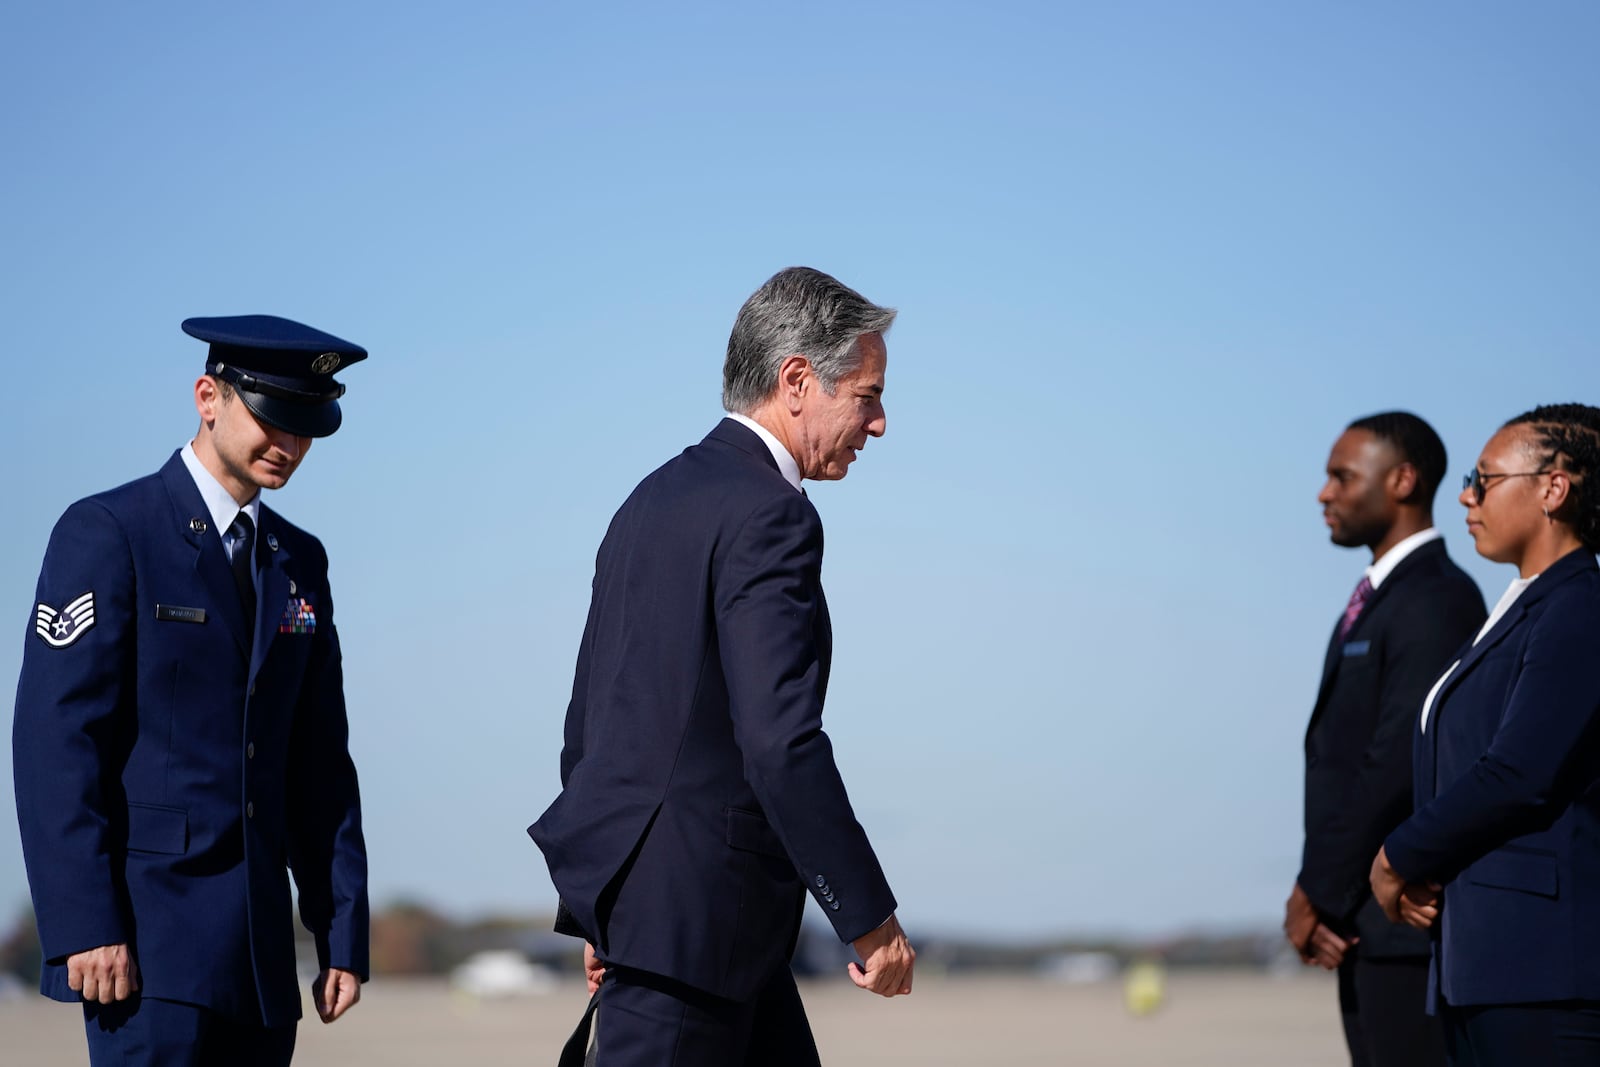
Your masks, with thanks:
M1448 881L1560 813L1595 774L1600 601L1554 600L1530 622L1499 729L1472 768L1406 819L1384 851L1410 881Z

